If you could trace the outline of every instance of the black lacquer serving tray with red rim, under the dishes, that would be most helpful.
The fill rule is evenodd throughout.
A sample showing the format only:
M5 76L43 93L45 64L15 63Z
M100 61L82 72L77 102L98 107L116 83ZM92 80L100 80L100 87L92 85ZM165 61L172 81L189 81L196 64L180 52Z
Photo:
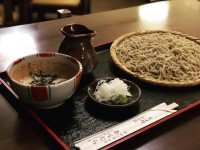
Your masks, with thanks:
M0 79L0 82L3 83L0 85L0 93L19 114L24 115L24 112L27 112L28 117L31 117L33 122L38 124L39 127L42 127L41 129L47 133L47 136L63 149L75 149L74 141L116 125L163 102L167 104L176 102L179 104L178 111L107 145L103 149L112 148L200 105L200 92L198 92L200 91L200 86L169 88L138 81L115 66L110 57L109 46L107 44L96 48L99 59L98 67L92 74L83 77L77 92L70 98L69 102L64 103L61 107L51 110L40 110L21 103L7 85L6 76L3 73L0 75L3 78ZM138 105L126 110L109 110L93 103L87 95L87 87L96 78L102 77L125 78L136 83L142 91ZM170 123L170 121L168 122Z

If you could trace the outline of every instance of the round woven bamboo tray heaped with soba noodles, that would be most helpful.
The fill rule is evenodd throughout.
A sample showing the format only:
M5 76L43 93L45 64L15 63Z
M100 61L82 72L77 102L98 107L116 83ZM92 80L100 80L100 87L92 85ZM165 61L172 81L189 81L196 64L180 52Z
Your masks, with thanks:
M176 31L133 32L116 39L110 54L120 69L142 81L170 87L200 84L198 38Z

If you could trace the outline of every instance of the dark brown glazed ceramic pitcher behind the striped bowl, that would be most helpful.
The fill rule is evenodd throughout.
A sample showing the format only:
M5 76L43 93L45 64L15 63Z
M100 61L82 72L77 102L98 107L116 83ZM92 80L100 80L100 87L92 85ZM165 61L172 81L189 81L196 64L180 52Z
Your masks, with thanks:
M83 66L83 74L92 72L98 64L97 55L91 42L96 32L81 24L68 24L61 28L61 33L65 38L58 52L77 58Z

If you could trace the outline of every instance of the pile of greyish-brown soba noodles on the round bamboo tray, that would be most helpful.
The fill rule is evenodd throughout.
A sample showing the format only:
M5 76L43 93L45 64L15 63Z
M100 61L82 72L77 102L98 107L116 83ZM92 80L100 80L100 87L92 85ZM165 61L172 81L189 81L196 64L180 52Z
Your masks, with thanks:
M149 33L129 37L116 47L120 62L145 78L166 81L200 79L200 45L181 35Z

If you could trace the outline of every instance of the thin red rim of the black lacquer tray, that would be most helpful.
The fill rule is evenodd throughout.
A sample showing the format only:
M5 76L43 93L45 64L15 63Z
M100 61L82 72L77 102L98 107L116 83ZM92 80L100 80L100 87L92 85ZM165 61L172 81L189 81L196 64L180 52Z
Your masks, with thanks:
M111 45L111 43L106 43L106 44L104 44L104 45L98 45L98 46L96 46L95 47L95 49L96 49L96 51L101 51L102 49L107 49L107 48L109 48L110 47L110 45ZM2 78L4 78L5 77L5 72L3 72L3 73L1 73L1 77ZM18 96L14 93L14 91L10 88L10 86L3 80L3 79L1 79L0 78L0 82L3 84L3 86L10 92L10 94L12 94L15 98L16 98L16 100L18 99ZM70 150L70 148L66 145L66 143L64 143L54 132L53 132L53 130L33 111L33 109L31 109L31 107L29 107L29 106L27 106L27 105L23 105L22 103L21 103L21 105L22 105L22 107L43 127L43 129L48 133L48 134L50 134L52 137L53 137L53 139L55 139L55 141L63 148L63 149L65 149L65 150ZM114 147L114 146L116 146L116 145L118 145L118 144L120 144L120 143L122 143L122 142L124 142L124 141L126 141L126 140L128 140L128 139L130 139L130 138L133 138L133 137L135 137L135 136L137 136L137 135L139 135L139 134L141 134L141 133L143 133L143 132L145 132L145 131L147 131L147 130L149 130L149 129L151 129L151 128L153 128L153 127L155 127L155 126L157 126L157 125L160 125L161 123L164 123L165 121L167 121L167 120L170 120L170 119L172 119L172 118L174 118L174 117L176 117L176 116L179 116L180 114L182 114L182 113L184 113L184 112L186 112L186 111L188 111L188 110L191 110L192 108L194 108L194 107L196 107L196 106L199 106L200 105L200 100L199 101L197 101L197 102L195 102L195 103L193 103L193 104L191 104L191 105L189 105L189 106L187 106L187 107L185 107L185 108L183 108L183 109L181 109L181 110L179 110L179 111L177 111L177 112L175 112L175 113L173 113L173 114L171 114L171 115L169 115L169 116L167 116L167 117L165 117L165 118L163 118L163 119L161 119L161 120L158 120L158 121L156 121L155 123L152 123L152 124L150 124L150 125L148 125L148 126L146 126L146 127L144 127L144 128L142 128L142 129L140 129L140 130L138 130L138 131L136 131L136 132L134 132L134 133L132 133L132 134L130 134L130 135L128 135L128 136L126 136L126 137L124 137L124 138L122 138L122 139L120 139L120 140L118 140L118 141L116 141L116 142L113 142L113 143L111 143L111 144L109 144L109 145L107 145L107 146L105 146L105 147L103 147L102 148L102 150L107 150L107 149L109 149L109 148L112 148L112 147Z

